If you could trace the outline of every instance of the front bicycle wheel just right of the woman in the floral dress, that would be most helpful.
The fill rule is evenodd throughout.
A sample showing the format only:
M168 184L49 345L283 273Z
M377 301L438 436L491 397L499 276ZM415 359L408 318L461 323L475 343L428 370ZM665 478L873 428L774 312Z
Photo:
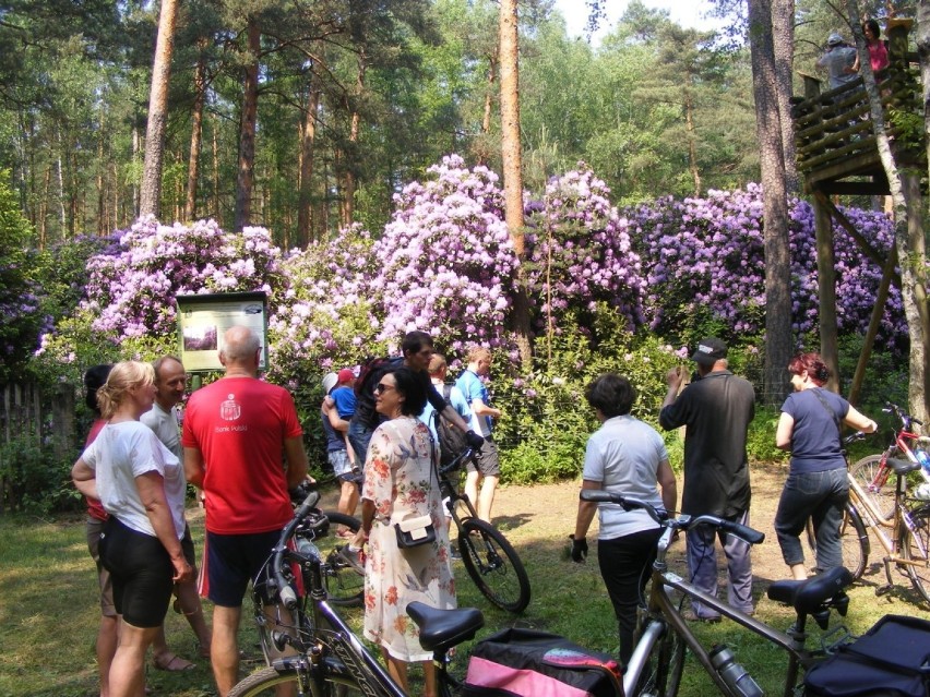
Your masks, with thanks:
M489 522L466 518L458 552L478 590L501 610L523 612L529 604L529 577L504 537Z

